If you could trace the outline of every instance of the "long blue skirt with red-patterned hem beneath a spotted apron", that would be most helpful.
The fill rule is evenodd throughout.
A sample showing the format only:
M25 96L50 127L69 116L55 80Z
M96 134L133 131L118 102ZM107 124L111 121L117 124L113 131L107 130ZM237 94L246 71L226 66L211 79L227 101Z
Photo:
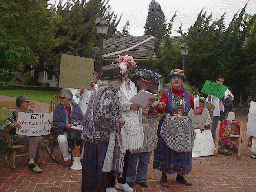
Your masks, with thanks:
M170 149L163 138L160 136L160 130L165 116L159 121L157 135L158 143L154 151L153 168L166 174L179 174L185 176L191 170L192 151L177 152Z

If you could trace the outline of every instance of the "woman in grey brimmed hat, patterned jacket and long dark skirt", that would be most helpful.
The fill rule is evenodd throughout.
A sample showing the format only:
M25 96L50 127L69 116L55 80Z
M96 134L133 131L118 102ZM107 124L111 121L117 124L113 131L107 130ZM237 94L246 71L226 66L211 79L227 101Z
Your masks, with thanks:
M115 177L122 175L122 118L117 91L124 76L116 64L105 66L99 88L91 96L84 116L84 152L81 191L117 191Z

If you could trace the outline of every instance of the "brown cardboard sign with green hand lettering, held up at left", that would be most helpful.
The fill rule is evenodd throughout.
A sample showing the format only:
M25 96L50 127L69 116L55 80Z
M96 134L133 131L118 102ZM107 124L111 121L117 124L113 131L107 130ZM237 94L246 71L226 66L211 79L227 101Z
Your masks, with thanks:
M94 59L61 54L59 68L60 88L91 88Z

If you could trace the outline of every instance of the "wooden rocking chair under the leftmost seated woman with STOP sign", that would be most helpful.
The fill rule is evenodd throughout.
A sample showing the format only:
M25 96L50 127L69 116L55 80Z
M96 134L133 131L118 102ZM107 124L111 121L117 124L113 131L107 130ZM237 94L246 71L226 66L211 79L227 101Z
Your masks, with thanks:
M34 107L35 103L33 101L30 101L30 106ZM3 122L5 121L3 108L8 109L8 114L10 113L10 111L17 110L15 101L0 102L0 108L1 108L1 115L2 115ZM5 129L5 136L7 139L7 147L8 147L8 155L7 156L5 155L5 161L10 168L15 168L16 167L15 160L17 157L29 157L29 153L27 152L27 149L29 147L26 145L13 145L9 129ZM43 162L41 160L42 159L41 154L39 154L39 159L40 159L39 163L42 164Z

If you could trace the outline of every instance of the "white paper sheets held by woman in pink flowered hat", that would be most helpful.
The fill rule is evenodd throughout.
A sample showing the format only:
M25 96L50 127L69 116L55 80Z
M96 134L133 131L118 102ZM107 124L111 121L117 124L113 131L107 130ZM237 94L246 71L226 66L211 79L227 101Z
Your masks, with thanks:
M147 103L149 102L149 98L156 97L157 94L150 93L148 91L140 90L137 95L135 95L133 98L130 99L130 101L134 104L139 104L142 106L142 108L145 108Z

